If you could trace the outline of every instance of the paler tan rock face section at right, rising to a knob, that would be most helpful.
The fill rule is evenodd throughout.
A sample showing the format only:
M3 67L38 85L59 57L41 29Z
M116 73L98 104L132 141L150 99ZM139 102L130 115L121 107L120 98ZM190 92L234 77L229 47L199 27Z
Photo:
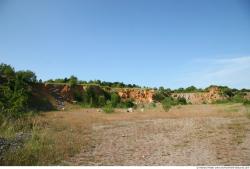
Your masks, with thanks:
M173 93L172 97L184 97L187 102L192 104L212 103L213 101L224 99L217 87L211 87L208 92Z

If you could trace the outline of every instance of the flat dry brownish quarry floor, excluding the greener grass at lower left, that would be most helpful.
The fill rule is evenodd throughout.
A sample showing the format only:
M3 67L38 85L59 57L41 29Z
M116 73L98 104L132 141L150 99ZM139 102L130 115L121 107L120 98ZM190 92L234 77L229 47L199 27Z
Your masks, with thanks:
M249 110L240 104L160 107L105 114L49 113L84 137L63 165L250 165Z

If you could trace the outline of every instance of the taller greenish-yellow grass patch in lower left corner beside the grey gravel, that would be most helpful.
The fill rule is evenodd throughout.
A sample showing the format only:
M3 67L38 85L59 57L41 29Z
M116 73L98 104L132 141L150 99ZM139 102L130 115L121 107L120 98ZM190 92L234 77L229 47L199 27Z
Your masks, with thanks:
M86 132L72 128L71 124L61 121L60 116L47 116L54 113L60 114L50 112L23 120L26 126L31 127L22 131L31 133L32 137L22 148L7 152L0 161L1 165L56 165L78 153L86 140ZM6 125L1 136L14 137L15 132L20 131L15 129L21 126L19 123Z

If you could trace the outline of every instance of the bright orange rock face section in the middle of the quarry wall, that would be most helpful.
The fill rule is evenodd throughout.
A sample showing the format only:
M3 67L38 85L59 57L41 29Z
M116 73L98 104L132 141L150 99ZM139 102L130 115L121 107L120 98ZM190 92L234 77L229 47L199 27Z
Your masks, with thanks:
M154 90L149 89L117 89L118 95L123 99L132 99L136 103L151 103L153 101Z

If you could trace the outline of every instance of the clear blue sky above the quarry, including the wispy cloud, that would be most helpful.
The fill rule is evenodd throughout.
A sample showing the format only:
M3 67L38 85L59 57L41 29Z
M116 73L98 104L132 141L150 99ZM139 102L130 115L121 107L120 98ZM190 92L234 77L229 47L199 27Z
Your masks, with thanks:
M0 0L0 63L179 88L250 88L249 0Z

